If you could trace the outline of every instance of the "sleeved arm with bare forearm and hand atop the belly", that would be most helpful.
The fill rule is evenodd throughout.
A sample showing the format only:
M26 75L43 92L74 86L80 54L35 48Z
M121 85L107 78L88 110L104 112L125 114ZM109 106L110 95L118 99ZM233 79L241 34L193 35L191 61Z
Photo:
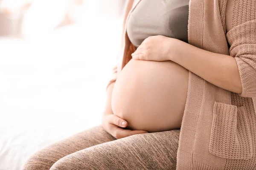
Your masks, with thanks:
M131 54L134 59L172 60L199 77L241 97L256 97L255 0L235 5L226 37L230 55L217 54L162 35L146 38ZM231 27L231 26L230 26ZM164 49L164 50L163 50Z

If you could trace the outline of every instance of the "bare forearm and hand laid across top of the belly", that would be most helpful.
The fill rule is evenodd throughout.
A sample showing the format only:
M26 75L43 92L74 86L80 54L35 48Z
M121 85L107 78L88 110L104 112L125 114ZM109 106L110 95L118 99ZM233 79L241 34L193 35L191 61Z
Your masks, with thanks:
M213 85L242 93L236 60L229 55L213 53L178 39L157 35L146 38L132 57L149 61L171 60Z

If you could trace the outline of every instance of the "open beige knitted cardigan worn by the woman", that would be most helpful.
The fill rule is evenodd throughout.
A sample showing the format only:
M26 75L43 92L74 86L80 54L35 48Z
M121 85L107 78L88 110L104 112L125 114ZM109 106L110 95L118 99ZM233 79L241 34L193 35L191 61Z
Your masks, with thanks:
M121 51L108 85L135 51L126 23L139 1L127 0ZM256 170L256 0L190 0L188 40L234 57L242 93L219 88L189 71L177 170Z

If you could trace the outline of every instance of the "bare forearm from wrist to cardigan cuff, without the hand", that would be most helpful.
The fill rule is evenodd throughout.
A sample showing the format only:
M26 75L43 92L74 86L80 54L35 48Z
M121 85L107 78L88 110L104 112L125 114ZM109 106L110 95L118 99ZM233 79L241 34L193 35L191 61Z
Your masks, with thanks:
M241 94L239 69L233 57L206 51L180 40L172 49L176 51L170 51L170 60L213 85Z

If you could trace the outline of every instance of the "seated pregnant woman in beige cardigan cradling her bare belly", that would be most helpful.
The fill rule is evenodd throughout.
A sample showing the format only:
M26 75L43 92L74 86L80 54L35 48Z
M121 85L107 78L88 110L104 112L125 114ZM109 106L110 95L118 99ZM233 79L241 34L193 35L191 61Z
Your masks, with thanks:
M255 170L255 106L255 0L127 0L102 125L23 170Z

